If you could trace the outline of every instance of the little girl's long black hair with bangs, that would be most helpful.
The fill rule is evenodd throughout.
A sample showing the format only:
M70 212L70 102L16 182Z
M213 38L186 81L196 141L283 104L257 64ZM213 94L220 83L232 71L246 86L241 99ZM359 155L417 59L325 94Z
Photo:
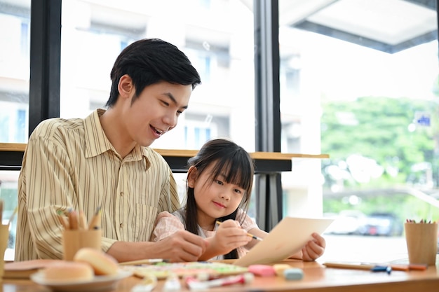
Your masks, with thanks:
M227 139L212 139L206 142L197 153L197 155L188 160L188 169L191 166L196 167L196 176L200 176L203 171L214 163L210 178L215 179L223 174L227 183L234 183L245 190L243 201L238 208L231 214L217 221L223 222L227 219L236 219L238 209L242 208L245 212L250 204L250 195L252 192L253 175L255 172L254 162L250 154L241 146ZM189 175L189 174L188 174ZM198 235L197 208L194 197L194 188L187 188L187 202L184 207L184 225L186 230ZM244 220L244 218L243 218ZM241 222L242 223L242 222ZM238 258L236 249L224 255L225 259Z

